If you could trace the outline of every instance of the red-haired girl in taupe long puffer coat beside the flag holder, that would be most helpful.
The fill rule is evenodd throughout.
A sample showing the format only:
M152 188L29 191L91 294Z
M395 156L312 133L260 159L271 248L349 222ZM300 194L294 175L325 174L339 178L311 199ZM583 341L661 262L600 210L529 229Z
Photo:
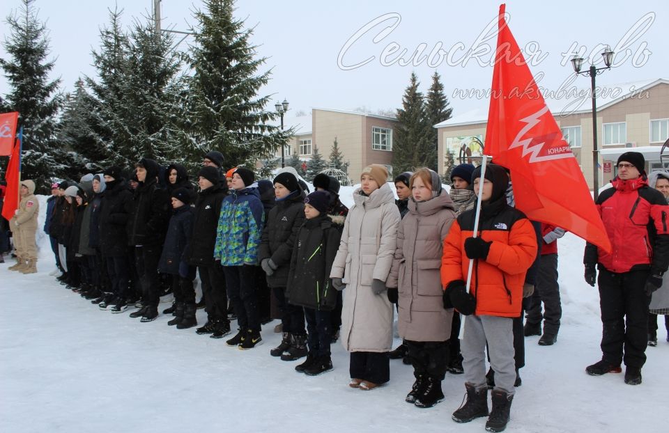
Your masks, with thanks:
M453 308L443 306L440 267L443 240L456 213L437 173L420 168L410 182L409 213L399 226L387 286L391 298L397 289L390 288L399 287L397 325L416 378L406 402L432 407L444 399L441 381L447 368Z

